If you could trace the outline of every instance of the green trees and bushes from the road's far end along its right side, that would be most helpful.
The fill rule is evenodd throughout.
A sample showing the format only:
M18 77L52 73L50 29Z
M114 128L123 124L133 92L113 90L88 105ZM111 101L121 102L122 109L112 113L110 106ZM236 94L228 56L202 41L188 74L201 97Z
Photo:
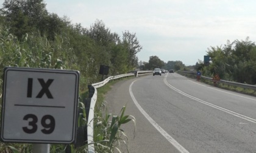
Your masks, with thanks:
M182 61L165 63L158 56L150 56L148 62L140 63L140 69L152 70L158 67L166 70L173 69L176 72L201 71L205 77L213 78L218 74L221 80L256 84L256 45L249 37L245 40L236 39L233 42L227 40L227 44L221 46L210 46L206 56L210 57L209 63L198 60L194 66L185 66Z

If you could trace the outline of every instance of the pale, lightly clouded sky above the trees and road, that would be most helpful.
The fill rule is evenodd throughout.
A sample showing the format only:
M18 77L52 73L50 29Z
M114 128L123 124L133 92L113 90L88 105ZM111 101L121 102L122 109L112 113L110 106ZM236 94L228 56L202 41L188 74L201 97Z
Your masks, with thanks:
M4 0L0 0L2 4ZM67 16L90 28L96 20L123 36L135 33L143 49L139 61L150 56L182 61L186 66L204 60L210 47L227 41L256 40L255 0L44 0L49 13Z

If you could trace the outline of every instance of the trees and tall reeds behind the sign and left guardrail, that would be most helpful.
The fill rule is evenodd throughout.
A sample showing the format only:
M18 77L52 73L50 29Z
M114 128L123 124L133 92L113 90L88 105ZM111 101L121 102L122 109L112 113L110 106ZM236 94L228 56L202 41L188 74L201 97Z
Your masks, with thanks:
M89 28L71 24L46 10L43 0L5 0L0 9L0 69L5 66L76 69L82 83L100 81L100 65L109 74L138 66L142 46L136 33L120 36L96 19Z

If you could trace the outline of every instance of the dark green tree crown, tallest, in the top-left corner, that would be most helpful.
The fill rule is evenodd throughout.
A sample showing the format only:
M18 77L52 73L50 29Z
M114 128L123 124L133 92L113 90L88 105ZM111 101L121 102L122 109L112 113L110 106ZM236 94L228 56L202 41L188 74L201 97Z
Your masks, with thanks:
M10 25L10 31L21 39L22 35L41 25L41 21L48 15L45 7L43 0L5 0L2 15Z

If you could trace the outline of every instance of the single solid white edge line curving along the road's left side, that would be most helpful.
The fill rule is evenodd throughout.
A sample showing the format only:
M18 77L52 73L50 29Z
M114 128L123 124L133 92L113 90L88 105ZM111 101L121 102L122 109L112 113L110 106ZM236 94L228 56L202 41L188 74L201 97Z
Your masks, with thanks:
M135 80L137 81L137 80ZM165 137L169 143L171 143L176 149L178 149L180 151L180 153L189 153L185 148L183 148L182 145L180 145L176 140L174 140L174 138L171 137L171 135L169 135L162 127L160 127L146 112L145 110L140 106L140 104L138 104L138 101L135 99L133 93L132 93L132 85L135 82L133 81L132 84L130 84L129 87L129 92L130 92L130 97L132 97L132 100L134 102L134 104L138 107L138 109L140 110L141 114L144 115L144 117L146 117L149 121L149 123L151 123L155 129L157 129L157 131L160 132L160 134L163 135L163 137Z

